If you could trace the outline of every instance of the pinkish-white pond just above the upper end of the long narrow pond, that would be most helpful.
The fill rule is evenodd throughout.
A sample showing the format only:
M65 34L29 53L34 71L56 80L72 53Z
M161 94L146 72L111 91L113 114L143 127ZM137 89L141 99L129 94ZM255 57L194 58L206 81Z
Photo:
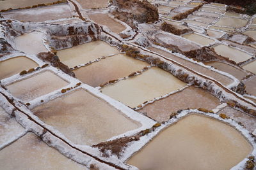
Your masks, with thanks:
M164 43L170 44L170 45L177 45L180 50L183 52L188 52L190 50L196 50L200 48L199 45L196 45L195 43L192 43L191 41L188 41L186 39L179 38L177 36L171 35L171 34L157 34L156 38L163 41Z

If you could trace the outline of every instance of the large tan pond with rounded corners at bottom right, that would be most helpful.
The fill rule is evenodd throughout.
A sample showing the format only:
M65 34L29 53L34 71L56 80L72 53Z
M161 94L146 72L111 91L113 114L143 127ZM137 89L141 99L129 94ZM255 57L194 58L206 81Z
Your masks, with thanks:
M233 127L189 115L160 132L127 161L139 169L230 169L252 152Z

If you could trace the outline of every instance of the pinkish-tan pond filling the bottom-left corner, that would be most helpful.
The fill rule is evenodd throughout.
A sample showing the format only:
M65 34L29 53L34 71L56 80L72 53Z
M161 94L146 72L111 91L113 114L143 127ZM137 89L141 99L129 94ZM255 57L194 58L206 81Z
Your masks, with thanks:
M29 132L0 151L1 169L85 169Z

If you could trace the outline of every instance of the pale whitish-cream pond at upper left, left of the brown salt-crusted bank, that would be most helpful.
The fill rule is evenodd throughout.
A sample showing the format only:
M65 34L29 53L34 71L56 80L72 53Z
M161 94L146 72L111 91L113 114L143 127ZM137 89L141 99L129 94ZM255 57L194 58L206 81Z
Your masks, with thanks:
M14 39L15 46L17 50L20 50L24 53L29 54L38 54L40 52L47 52L43 44L43 36L42 32L29 32L22 36L18 36ZM33 48L31 48L33 46Z

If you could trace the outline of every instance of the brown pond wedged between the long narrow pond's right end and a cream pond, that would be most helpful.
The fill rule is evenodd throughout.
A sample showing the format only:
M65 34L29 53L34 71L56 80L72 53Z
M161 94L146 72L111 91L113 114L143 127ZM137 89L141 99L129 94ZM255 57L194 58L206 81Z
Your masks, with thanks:
M220 71L229 73L239 80L242 80L246 76L246 73L244 71L241 71L241 70L237 69L236 67L230 66L223 62L205 62L205 65L212 66Z

